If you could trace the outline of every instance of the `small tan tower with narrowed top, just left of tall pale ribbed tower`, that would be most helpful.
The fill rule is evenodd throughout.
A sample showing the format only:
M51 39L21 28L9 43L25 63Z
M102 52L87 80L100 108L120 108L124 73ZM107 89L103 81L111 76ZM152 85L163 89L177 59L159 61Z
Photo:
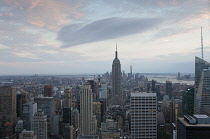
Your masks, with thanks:
M71 96L71 88L70 87L67 87L64 90L63 107L64 108L71 108L72 107L72 96Z

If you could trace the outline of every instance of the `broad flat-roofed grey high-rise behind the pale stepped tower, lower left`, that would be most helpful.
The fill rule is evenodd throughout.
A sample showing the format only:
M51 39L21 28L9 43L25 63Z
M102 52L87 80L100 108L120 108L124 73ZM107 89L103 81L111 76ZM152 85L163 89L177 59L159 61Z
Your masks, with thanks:
M55 99L53 97L36 97L34 102L37 103L37 110L41 109L47 115L48 136L51 135L52 118L56 115Z

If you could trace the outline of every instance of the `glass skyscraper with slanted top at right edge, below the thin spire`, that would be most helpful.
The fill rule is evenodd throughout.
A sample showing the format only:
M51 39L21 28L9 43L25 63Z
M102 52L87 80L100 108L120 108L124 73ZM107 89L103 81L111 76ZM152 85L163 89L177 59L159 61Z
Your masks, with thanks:
M210 105L210 63L195 57L194 113L203 114L204 106Z

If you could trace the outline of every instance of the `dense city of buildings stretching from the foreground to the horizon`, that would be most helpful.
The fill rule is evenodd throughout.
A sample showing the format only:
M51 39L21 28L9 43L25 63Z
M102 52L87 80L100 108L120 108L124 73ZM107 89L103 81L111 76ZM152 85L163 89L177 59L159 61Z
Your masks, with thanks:
M0 138L210 138L210 63L195 57L195 75L177 73L195 85L132 71L116 50L101 75L1 76Z

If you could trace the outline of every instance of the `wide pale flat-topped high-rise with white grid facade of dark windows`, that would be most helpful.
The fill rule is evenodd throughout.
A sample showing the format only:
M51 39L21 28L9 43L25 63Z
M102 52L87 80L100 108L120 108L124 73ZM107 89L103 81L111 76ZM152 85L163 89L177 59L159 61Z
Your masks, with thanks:
M155 93L131 93L131 138L157 138L157 97Z

